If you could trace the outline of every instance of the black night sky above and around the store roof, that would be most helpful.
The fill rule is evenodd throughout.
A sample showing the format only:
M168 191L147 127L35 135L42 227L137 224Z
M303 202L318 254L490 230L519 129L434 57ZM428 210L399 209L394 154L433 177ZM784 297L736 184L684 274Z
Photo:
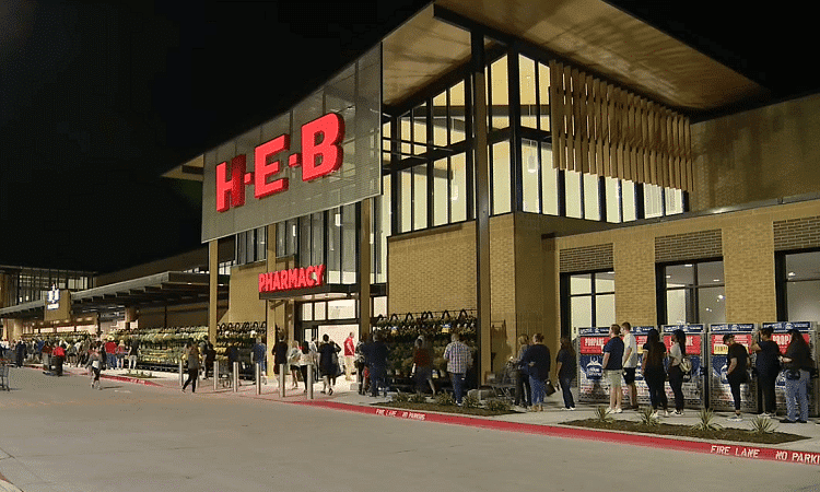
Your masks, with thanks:
M110 3L0 1L0 265L105 272L198 247L198 184L160 175L425 2ZM616 3L776 96L818 85L807 15Z

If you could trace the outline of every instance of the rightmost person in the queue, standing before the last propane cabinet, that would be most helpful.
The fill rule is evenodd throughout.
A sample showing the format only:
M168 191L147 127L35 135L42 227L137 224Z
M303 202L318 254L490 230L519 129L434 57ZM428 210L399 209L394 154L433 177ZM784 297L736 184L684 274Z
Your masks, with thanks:
M783 423L806 423L809 420L808 384L809 375L815 364L811 362L811 350L800 330L788 331L792 340L786 347L783 355L783 364L786 368L786 418ZM797 410L800 414L797 414Z

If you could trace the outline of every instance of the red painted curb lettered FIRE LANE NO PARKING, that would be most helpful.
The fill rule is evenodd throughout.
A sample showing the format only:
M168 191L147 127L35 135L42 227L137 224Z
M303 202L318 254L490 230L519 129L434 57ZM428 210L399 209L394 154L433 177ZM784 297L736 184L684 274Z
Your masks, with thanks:
M772 447L761 447L745 444L726 444L724 442L712 443L704 441L676 440L618 431L598 431L594 429L583 427L503 422L495 420L477 419L473 417L454 415L448 413L413 412L409 410L397 410L391 408L362 407L356 405L339 403L336 401L294 401L293 403L324 407L336 410L347 410L371 415L415 420L420 422L468 425L472 427L492 429L496 431L549 435L552 437L569 437L576 440L599 441L606 443L631 444L634 446L704 453L735 458L766 459L772 461L798 462L804 465L820 465L820 453L777 449Z

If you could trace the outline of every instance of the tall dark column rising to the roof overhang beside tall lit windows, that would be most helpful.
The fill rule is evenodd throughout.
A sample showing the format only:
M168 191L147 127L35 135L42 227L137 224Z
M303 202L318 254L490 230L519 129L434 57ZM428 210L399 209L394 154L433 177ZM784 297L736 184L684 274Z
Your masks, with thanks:
M473 155L476 156L476 280L479 349L479 384L487 380L490 366L490 159L487 145L487 81L484 80L484 36L470 33L472 52Z

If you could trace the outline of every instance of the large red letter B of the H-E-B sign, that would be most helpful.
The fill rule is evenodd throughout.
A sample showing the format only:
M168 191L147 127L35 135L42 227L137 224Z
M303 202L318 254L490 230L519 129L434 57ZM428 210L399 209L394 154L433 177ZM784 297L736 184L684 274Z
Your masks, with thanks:
M302 180L327 176L339 171L344 151L339 143L344 137L344 120L329 113L302 126Z

